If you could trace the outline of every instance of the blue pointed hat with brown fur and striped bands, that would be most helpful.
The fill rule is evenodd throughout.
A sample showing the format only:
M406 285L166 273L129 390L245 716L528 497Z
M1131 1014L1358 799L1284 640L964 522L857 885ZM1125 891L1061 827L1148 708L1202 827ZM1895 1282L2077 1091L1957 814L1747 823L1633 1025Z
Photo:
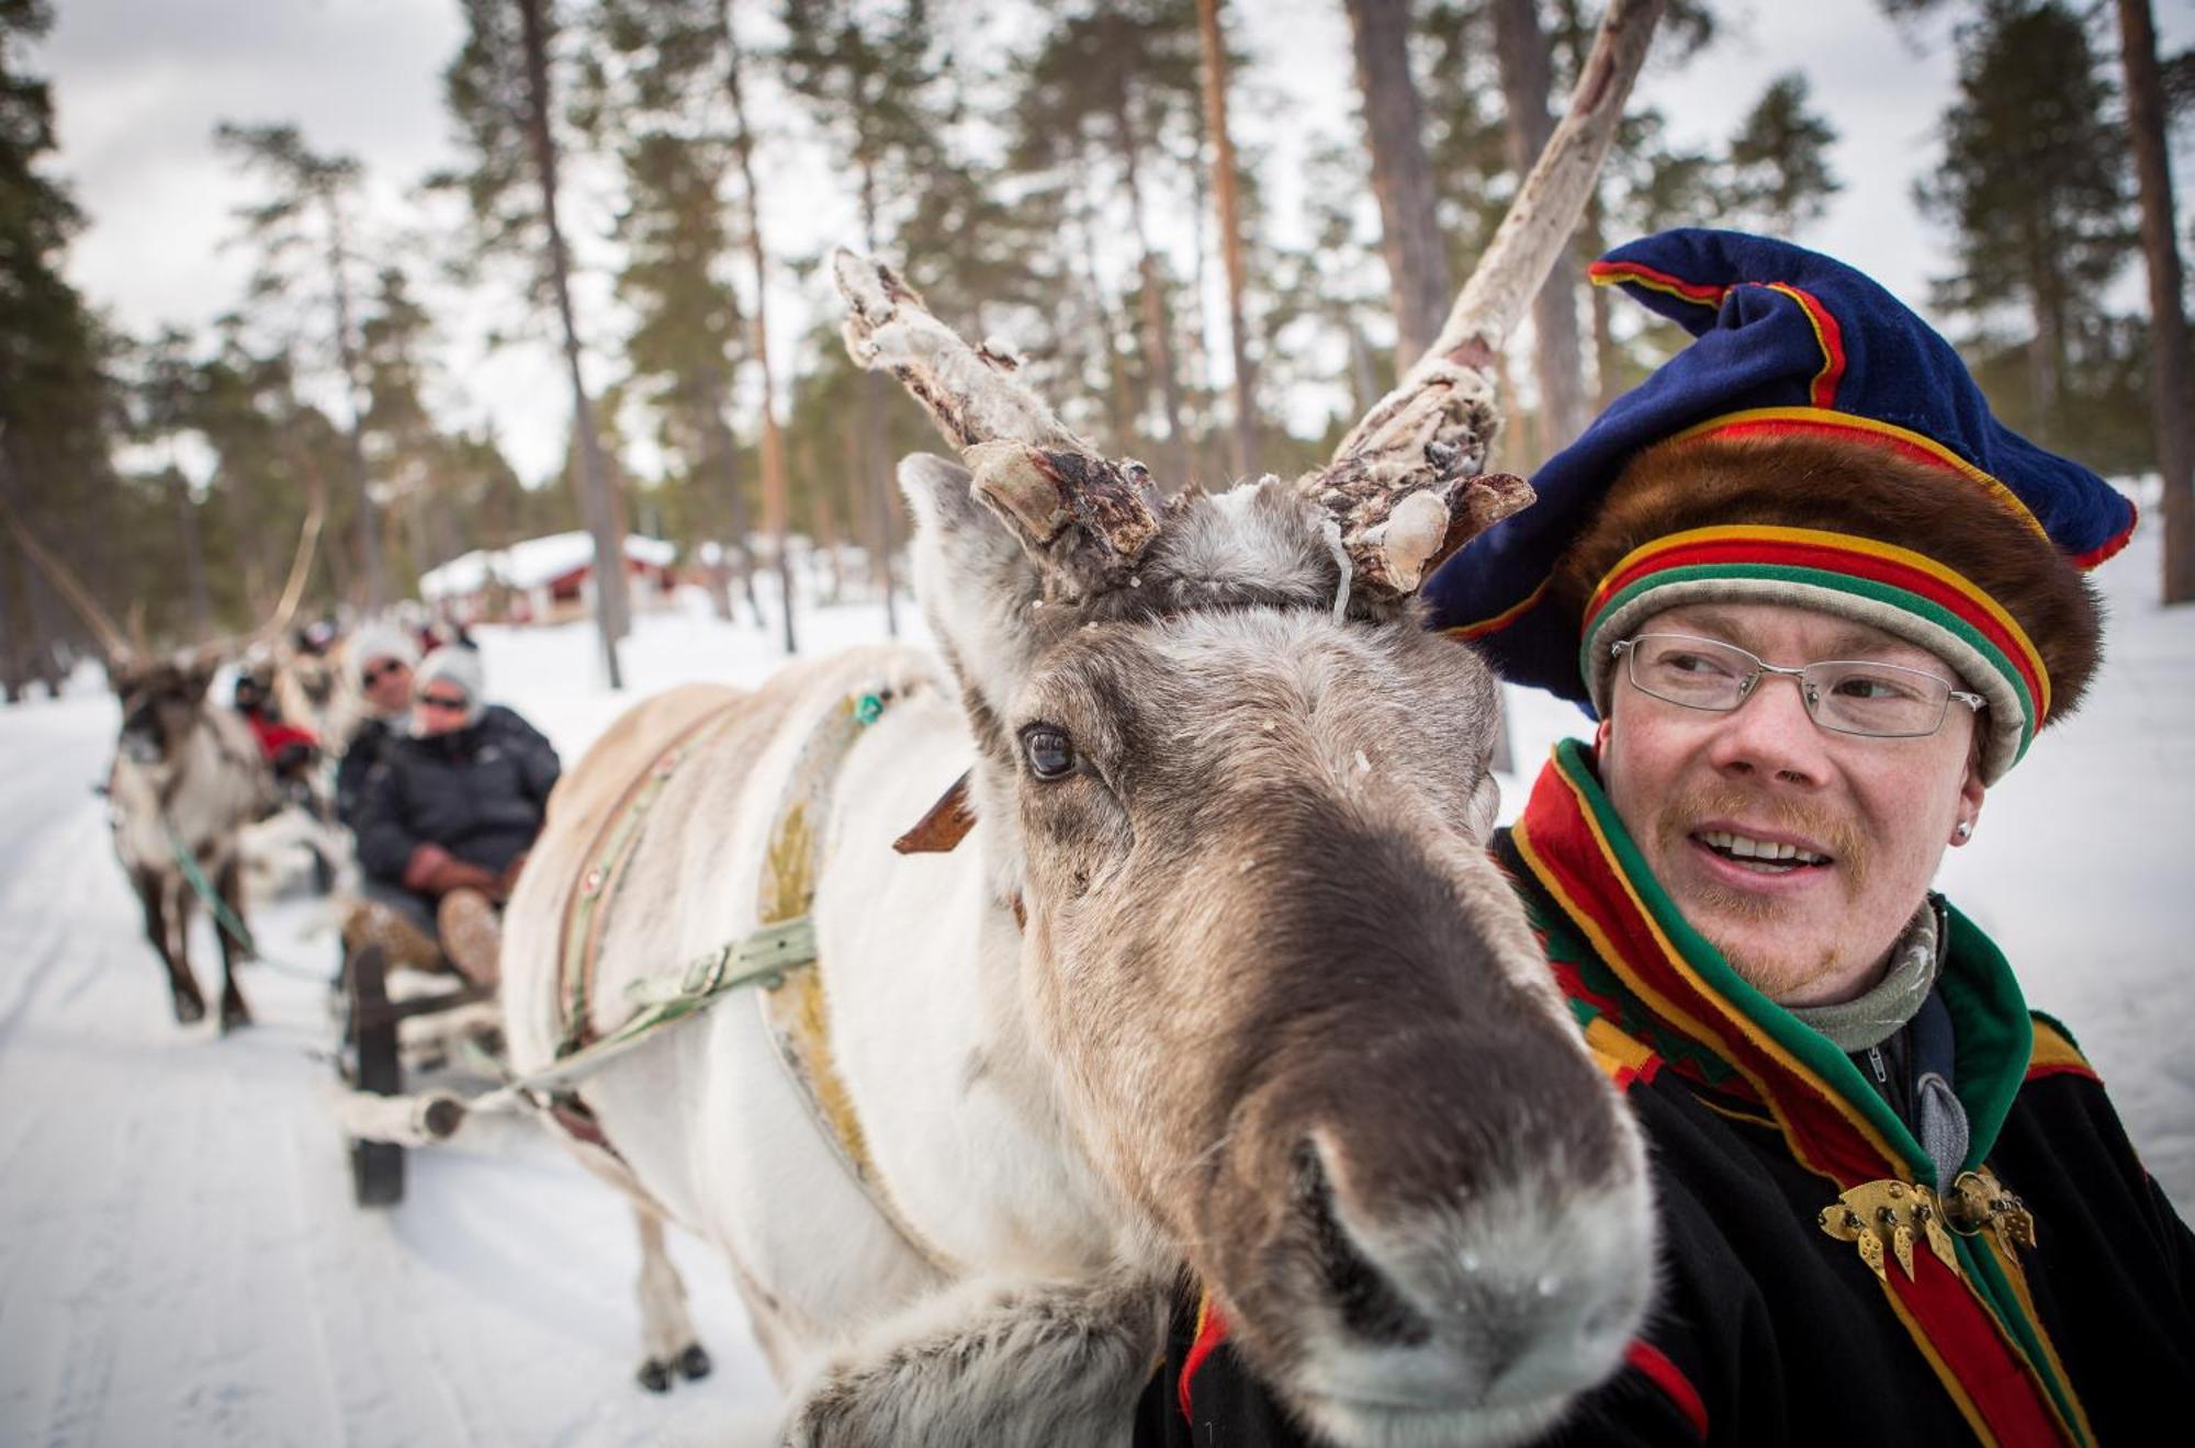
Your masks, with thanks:
M1504 678L1598 709L1609 643L1655 612L1824 610L1951 665L1989 700L1982 774L2004 774L2096 669L2085 570L2125 546L2134 505L2000 423L1949 342L1839 261L1666 230L1591 279L1695 342L1433 575L1436 625Z

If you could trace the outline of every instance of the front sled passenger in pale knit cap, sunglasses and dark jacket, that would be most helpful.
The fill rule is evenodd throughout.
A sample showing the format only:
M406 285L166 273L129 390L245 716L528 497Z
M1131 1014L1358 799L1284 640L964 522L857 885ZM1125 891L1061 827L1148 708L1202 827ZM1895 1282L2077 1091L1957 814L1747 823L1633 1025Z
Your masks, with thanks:
M485 702L483 682L472 647L419 660L410 726L369 772L356 829L369 897L432 937L468 981L494 985L496 913L540 834L560 763L540 731ZM375 924L393 930L386 917Z

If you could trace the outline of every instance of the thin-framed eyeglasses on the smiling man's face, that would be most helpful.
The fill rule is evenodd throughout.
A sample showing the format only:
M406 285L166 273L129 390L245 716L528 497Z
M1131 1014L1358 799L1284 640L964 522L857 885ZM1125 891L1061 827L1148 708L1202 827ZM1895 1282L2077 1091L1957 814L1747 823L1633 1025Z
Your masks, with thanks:
M1695 638L1690 634L1637 634L1609 645L1609 656L1624 658L1631 685L1684 709L1730 713L1752 698L1763 674L1798 680L1806 715L1839 735L1872 739L1914 739L1943 728L1943 717L1958 700L1980 713L1989 706L1980 693L1956 689L1951 680L1923 669L1872 663L1864 658L1831 658L1798 669L1771 665L1734 643Z

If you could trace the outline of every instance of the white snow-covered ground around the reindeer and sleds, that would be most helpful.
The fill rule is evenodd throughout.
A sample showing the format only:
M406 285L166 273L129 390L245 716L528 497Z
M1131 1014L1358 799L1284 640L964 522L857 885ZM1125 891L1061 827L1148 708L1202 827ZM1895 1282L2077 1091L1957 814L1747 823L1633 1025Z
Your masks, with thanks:
M2136 1145L2195 1207L2195 610L2153 601L2155 529L2103 570L2112 658L1954 851L1945 889L2068 1020ZM911 619L902 606L902 623ZM801 619L803 647L882 634L876 608ZM915 625L920 627L920 625ZM777 636L648 616L628 698L755 682ZM626 704L586 627L483 632L489 693L575 759ZM1512 695L1519 768L1578 724ZM547 1136L479 1121L413 1152L389 1213L349 1200L325 1097L334 939L320 906L255 908L259 1025L180 1029L92 794L114 737L97 680L0 711L0 1441L755 1441L775 1389L724 1270L672 1251L718 1371L650 1398L626 1209ZM1515 810L1521 788L1506 790ZM211 981L209 932L193 950ZM213 970L209 970L209 965Z

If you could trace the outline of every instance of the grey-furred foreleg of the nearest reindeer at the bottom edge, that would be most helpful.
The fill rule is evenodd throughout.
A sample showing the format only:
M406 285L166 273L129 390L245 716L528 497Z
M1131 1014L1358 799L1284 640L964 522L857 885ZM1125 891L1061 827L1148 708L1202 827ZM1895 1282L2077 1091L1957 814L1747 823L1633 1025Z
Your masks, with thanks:
M970 1281L828 1362L784 1444L1124 1444L1163 1330L1166 1294L1133 1272Z

